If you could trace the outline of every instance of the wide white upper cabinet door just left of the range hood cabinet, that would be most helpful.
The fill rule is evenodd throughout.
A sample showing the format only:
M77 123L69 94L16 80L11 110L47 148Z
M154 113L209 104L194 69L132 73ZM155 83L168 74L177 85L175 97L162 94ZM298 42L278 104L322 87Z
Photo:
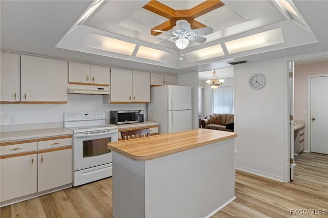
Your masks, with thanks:
M67 61L21 56L22 103L67 103Z

